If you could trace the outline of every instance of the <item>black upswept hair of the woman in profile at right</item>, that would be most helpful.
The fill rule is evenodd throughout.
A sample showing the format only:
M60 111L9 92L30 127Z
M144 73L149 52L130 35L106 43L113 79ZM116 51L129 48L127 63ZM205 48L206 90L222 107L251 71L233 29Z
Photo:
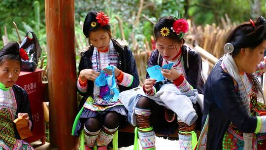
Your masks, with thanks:
M250 22L245 22L235 27L226 43L232 43L234 50L232 56L236 56L241 48L250 47L254 49L266 39L266 20L264 17L259 17L254 22L255 27Z

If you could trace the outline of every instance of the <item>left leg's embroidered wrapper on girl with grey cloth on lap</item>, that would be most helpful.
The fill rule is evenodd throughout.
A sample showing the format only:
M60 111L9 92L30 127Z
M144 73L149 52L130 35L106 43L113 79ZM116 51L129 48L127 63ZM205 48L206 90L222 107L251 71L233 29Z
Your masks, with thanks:
M150 126L151 111L146 109L135 108L136 128L134 150L138 149L138 141L141 143L142 150L155 150L155 132Z

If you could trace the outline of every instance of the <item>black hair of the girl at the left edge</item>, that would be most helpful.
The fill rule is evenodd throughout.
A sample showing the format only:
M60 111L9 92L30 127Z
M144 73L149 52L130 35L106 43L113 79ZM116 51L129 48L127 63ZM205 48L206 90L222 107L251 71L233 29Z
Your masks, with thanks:
M0 65L7 59L19 61L21 65L21 57L19 55L19 44L17 42L9 42L0 50Z

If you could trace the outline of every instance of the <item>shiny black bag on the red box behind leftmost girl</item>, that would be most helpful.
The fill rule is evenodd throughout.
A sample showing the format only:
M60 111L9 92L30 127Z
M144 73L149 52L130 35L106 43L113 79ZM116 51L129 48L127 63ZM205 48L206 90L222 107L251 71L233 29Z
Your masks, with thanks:
M30 37L29 34L31 34ZM19 48L23 48L29 56L29 60L22 59L21 71L34 72L38 66L38 59L41 56L41 47L33 31L28 31L26 33Z

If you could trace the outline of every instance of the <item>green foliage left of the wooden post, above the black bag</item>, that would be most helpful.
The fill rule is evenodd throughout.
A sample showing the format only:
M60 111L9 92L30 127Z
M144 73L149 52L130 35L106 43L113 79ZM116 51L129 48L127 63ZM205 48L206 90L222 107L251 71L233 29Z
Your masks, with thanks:
M44 13L44 1L32 1L32 0L2 0L0 3L0 11L3 12L0 15L0 37L4 34L4 28L7 29L8 41L18 41L16 30L13 27L13 21L18 27L18 32L21 40L23 40L27 31L33 31L42 47L42 56L44 58L43 66L46 66L46 31L45 31L45 13ZM12 16L12 17L6 17ZM0 47L3 43L0 42ZM40 62L39 62L40 63Z

